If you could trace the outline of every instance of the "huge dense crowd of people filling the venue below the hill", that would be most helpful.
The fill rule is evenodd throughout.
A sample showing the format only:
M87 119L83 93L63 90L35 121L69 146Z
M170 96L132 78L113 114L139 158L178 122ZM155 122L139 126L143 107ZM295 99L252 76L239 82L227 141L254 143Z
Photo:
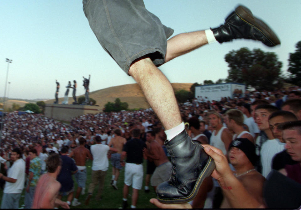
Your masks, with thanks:
M228 165L229 171L230 168L234 171L235 178L229 179L238 180L230 185L226 181L221 183L220 168L213 155L216 165L213 178L205 178L195 199L186 206L179 204L180 207L249 208L255 204L257 207L274 207L276 204L270 201L268 189L264 189L264 183L272 179L273 170L301 184L299 87L272 92L247 91L243 97L222 98L220 101L195 98L179 104L179 107L183 121L189 124L186 130L192 140L202 145L210 144L211 151L219 153L224 158L223 164ZM151 108L86 114L73 118L70 125L41 114L10 112L5 116L1 139L1 208L18 208L23 190L25 208L80 205L78 199L85 193L86 171L89 170L86 168L87 159L92 160L91 183L87 186L85 198L87 207L97 186L95 199L101 200L110 160L112 187L118 190L119 175L124 173L123 198L120 200L127 208L129 187L132 186L130 207L135 208L143 177L144 190L148 192L150 186L156 190L157 186L168 181L170 174L175 173L172 157L164 145L165 139L164 128ZM50 160L53 155L58 156L52 158L56 161L55 166ZM143 158L147 159L145 176ZM54 184L53 190L57 191L52 192L51 197L46 196L48 200L37 195L37 192L47 193L41 189L45 188L45 182ZM237 198L234 202L233 195L237 193L228 191L234 190L235 185L246 197L251 197L251 203L246 202L246 197L244 201ZM67 195L66 202L60 200L64 195ZM49 205L36 201L37 197L46 199ZM283 199L277 199L277 207L291 207L296 203L281 201ZM158 207L168 207L155 199L151 202Z

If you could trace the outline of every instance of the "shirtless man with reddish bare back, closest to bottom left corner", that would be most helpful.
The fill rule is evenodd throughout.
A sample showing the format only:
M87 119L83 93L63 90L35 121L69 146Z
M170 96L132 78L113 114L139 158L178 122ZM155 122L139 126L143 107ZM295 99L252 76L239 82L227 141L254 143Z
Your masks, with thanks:
M62 161L58 154L50 155L47 159L48 173L43 174L38 181L31 208L48 209L54 208L55 204L63 208L70 208L67 202L56 198L61 188L60 182L56 180L61 170L61 164Z

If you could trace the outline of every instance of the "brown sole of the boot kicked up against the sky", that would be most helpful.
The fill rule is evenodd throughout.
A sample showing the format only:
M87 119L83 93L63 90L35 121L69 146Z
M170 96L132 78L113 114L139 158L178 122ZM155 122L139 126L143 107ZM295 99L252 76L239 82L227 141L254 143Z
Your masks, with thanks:
M274 46L280 44L280 40L273 30L262 20L254 17L250 9L244 6L238 6L235 9L235 13L247 24L250 24L259 30Z

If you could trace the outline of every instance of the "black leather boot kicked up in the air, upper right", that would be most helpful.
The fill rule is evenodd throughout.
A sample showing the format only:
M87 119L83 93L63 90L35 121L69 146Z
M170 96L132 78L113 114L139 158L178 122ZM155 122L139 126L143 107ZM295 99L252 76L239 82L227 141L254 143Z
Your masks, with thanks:
M219 43L232 39L252 39L259 40L269 47L280 44L272 29L262 20L254 17L252 12L244 6L238 6L226 18L224 25L211 30Z

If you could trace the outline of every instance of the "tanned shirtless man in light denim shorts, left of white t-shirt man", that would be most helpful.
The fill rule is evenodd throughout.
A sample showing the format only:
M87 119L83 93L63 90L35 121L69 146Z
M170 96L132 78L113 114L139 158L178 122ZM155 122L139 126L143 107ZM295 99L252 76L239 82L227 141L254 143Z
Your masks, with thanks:
M77 182L77 190L75 197L72 202L72 206L78 206L81 203L77 202L79 195L81 194L82 188L86 185L87 180L87 170L86 170L86 159L93 159L90 151L85 148L86 140L83 137L80 137L79 146L75 148L69 155L69 157L75 160L77 166L77 173L75 174L75 180Z

